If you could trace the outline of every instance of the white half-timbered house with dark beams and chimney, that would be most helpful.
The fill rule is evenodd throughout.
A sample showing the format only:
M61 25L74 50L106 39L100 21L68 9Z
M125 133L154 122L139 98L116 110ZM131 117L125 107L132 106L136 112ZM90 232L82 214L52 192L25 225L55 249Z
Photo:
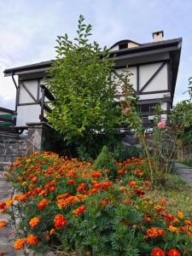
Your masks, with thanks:
M139 44L126 39L110 48L110 55L115 55L114 72L118 74L128 68L132 73L131 84L139 96L141 114L147 119L152 119L157 102L166 113L172 108L182 38L163 38L163 31L154 32L151 43ZM4 75L12 76L15 84L16 126L44 121L44 102L53 99L44 87L45 71L50 64L51 61L44 61L4 70Z

